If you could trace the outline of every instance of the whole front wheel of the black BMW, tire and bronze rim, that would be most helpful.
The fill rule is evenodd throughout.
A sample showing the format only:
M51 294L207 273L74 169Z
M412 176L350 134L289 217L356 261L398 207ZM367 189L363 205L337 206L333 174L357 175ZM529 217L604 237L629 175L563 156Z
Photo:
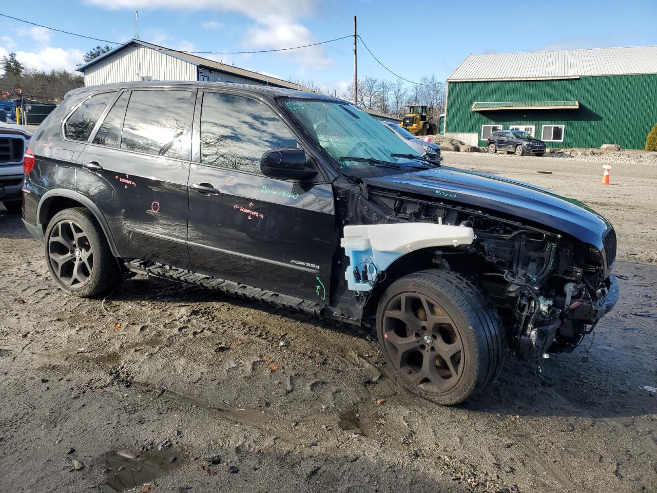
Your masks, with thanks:
M443 406L486 388L508 351L497 310L451 271L424 270L397 279L378 302L376 331L399 383Z

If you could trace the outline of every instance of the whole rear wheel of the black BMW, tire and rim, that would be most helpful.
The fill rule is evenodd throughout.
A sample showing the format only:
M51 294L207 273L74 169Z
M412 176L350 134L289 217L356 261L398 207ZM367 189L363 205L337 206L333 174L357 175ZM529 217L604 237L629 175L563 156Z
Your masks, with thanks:
M45 231L48 269L66 293L91 298L109 293L123 280L96 218L85 208L64 209Z

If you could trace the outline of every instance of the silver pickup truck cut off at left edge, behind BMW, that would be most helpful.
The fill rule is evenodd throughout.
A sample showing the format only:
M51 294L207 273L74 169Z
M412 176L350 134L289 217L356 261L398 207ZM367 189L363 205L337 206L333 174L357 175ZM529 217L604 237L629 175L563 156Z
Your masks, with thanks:
M11 214L22 206L23 154L32 133L0 123L0 202Z

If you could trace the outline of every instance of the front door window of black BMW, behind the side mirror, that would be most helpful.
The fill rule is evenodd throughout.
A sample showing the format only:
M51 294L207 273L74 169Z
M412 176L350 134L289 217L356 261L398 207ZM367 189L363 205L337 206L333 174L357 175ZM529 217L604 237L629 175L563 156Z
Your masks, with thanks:
M297 147L297 141L267 107L242 96L204 93L202 163L260 173L262 154L280 147Z

